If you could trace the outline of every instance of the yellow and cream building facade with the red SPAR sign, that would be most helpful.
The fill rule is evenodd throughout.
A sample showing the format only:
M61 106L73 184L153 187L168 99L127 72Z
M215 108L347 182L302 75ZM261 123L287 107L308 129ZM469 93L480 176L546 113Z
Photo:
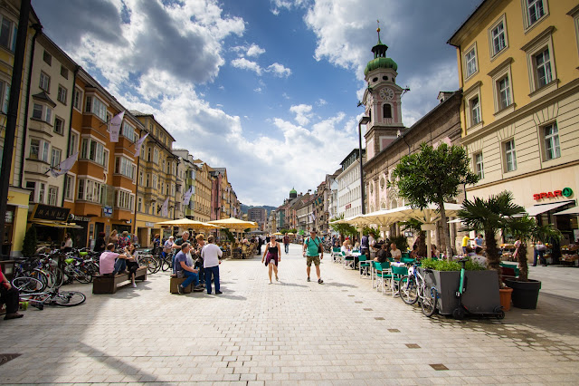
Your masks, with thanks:
M542 224L579 236L579 5L487 0L449 40L457 48L462 144L479 183L503 190Z

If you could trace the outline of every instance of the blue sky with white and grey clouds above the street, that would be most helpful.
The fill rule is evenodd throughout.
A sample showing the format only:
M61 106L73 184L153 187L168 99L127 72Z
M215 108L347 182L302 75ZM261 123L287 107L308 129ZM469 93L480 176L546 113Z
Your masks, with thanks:
M277 207L291 188L314 191L357 149L377 20L396 81L410 88L402 101L410 127L438 92L458 90L446 42L479 3L33 0L33 8L44 34L128 110L154 114L174 149L226 168L243 204Z

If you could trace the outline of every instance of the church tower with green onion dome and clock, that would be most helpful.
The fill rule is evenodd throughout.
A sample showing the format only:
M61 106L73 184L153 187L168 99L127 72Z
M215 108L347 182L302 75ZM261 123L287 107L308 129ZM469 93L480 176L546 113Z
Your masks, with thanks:
M365 116L370 117L366 125L366 159L372 159L404 130L402 123L401 97L403 88L396 84L398 65L386 57L388 46L380 41L372 47L374 59L365 66L364 75L367 88L362 104Z

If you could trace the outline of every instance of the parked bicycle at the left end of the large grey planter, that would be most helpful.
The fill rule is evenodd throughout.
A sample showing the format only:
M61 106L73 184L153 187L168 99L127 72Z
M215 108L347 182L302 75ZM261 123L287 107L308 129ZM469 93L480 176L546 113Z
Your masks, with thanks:
M431 274L432 269L424 268L424 274ZM415 304L419 302L422 307L422 313L428 317L436 311L438 301L438 291L435 286L426 284L423 277L414 263L408 268L408 275L403 276L400 280L400 297L405 304Z

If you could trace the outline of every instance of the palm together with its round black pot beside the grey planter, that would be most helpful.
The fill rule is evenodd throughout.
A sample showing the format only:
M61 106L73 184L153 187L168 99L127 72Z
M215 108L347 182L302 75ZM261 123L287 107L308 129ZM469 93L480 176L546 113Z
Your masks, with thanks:
M561 232L552 227L551 224L539 226L536 224L535 218L527 215L509 218L507 229L510 234L520 239L516 254L519 275L517 278L506 279L505 284L513 288L512 299L515 307L535 309L541 282L528 278L527 243L561 239Z

